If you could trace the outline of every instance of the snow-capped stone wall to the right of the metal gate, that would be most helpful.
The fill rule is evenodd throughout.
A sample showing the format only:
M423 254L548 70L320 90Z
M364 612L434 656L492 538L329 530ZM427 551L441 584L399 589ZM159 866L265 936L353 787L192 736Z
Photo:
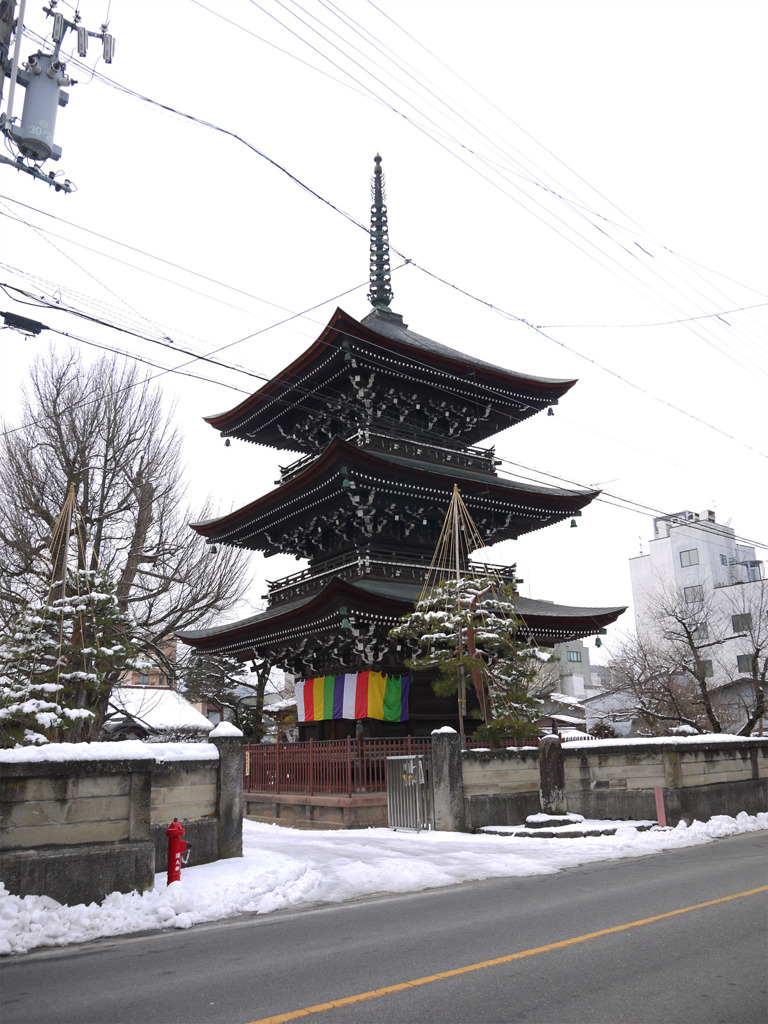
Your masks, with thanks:
M587 818L668 824L768 811L768 738L605 739L563 745L567 809ZM462 751L456 733L432 735L435 827L474 831L520 824L541 810L535 748Z

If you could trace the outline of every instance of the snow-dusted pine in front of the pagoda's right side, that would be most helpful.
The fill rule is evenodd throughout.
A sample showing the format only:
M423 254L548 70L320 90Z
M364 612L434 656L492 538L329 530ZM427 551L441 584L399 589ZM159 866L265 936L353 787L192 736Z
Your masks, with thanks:
M411 651L412 670L434 670L434 689L456 693L462 673L474 685L483 724L475 738L538 734L534 722L541 700L529 695L541 671L514 614L517 596L510 584L492 579L445 579L429 588L413 612L390 633Z

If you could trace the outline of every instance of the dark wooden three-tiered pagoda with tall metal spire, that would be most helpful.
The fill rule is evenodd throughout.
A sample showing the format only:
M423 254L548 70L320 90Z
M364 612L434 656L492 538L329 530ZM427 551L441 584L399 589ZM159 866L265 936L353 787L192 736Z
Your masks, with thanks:
M234 409L206 422L226 438L299 458L275 488L194 527L212 545L292 554L307 567L269 584L267 609L180 639L284 669L297 681L301 738L429 734L455 700L409 679L391 629L427 578L454 486L484 545L581 514L598 494L501 478L489 438L555 404L575 383L493 366L410 330L391 309L387 211L377 157L371 312L337 309L319 337ZM467 346L469 347L469 346ZM502 572L514 581L514 566ZM527 636L594 634L622 608L519 598ZM300 684L314 680L309 686Z

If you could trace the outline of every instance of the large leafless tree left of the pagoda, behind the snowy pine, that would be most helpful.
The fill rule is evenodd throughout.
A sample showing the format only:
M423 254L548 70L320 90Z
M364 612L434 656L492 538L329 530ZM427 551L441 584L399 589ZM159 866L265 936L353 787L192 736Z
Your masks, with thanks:
M23 400L0 452L3 622L34 590L36 557L74 486L89 541L78 567L113 581L135 635L163 662L164 638L227 610L248 579L241 552L212 556L187 525L211 511L184 505L181 438L159 391L118 356L86 368L74 351L51 351Z

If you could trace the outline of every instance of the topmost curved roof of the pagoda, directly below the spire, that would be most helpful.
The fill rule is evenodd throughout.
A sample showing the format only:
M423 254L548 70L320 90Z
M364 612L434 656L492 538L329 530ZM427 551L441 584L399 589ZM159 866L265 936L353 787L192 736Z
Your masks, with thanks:
M497 388L515 386L527 390L539 396L542 407L556 402L577 383L575 379L537 377L505 370L417 334L401 324L399 317L387 317L381 310L374 310L360 322L337 307L319 337L293 362L238 406L223 413L204 417L205 422L223 434L234 435L261 404L279 400L282 394L298 387L299 379L317 362L327 359L330 348L340 347L345 339L373 347L380 347L381 341L386 341L388 353L395 352L419 364L432 365L458 375L466 376L470 371L473 381L478 385L486 384ZM531 410L528 415L538 410Z

